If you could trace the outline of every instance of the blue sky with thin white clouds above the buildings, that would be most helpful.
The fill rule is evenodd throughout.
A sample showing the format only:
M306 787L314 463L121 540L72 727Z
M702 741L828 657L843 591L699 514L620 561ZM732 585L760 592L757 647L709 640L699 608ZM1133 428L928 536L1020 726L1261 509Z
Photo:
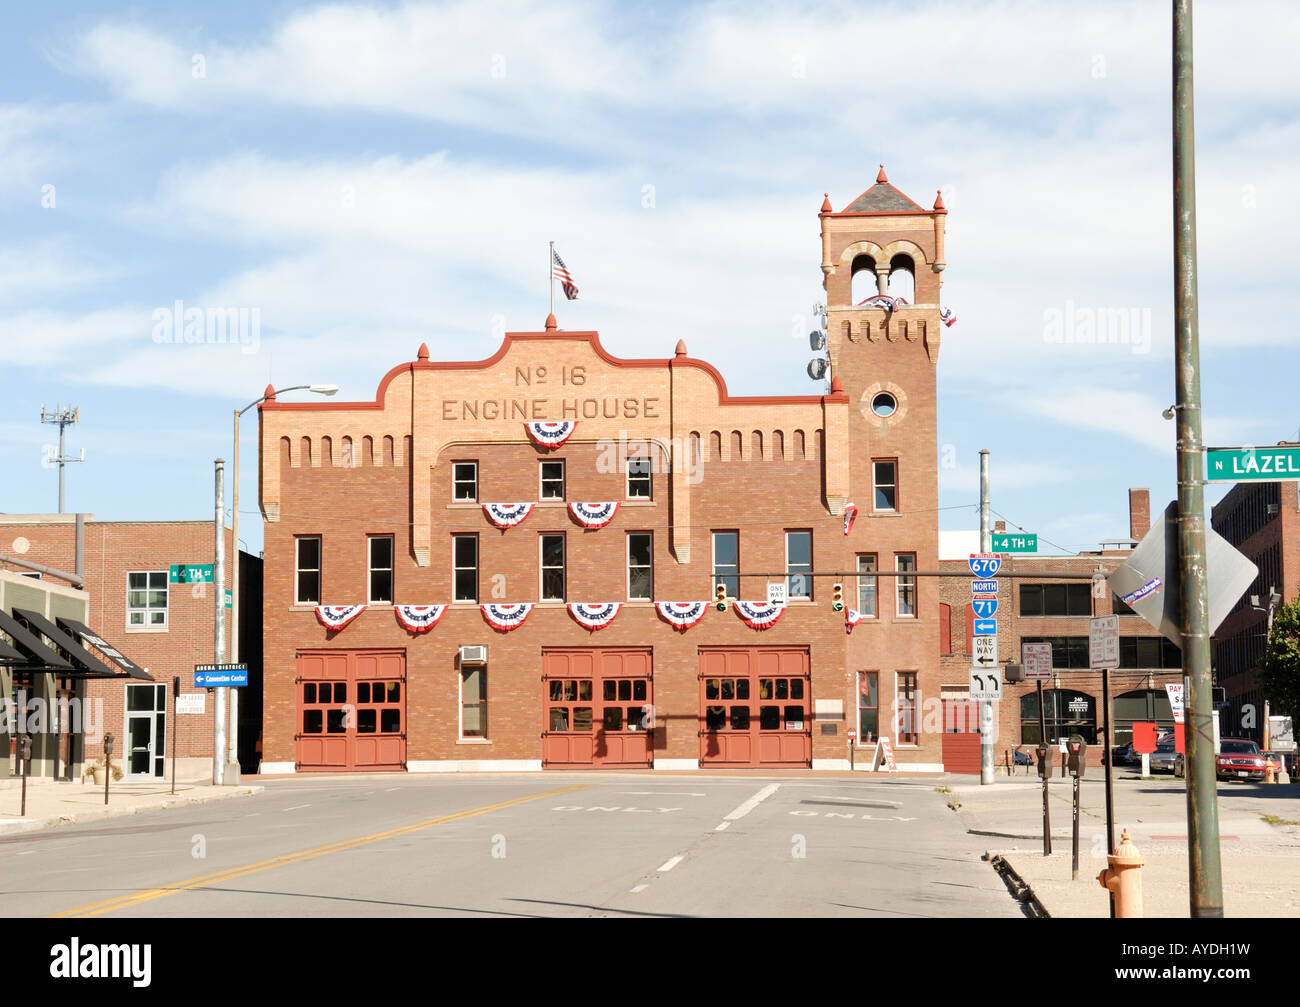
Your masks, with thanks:
M816 213L883 162L949 212L940 528L975 526L987 448L997 515L1096 548L1127 487L1175 494L1170 31L1105 0L6 5L0 511L56 509L61 404L68 511L209 517L234 409L268 382L372 400L420 343L541 329L549 240L581 287L562 327L819 394ZM1212 446L1300 431L1297 34L1288 3L1196 8ZM169 344L177 301L259 326ZM257 551L254 412L242 434Z

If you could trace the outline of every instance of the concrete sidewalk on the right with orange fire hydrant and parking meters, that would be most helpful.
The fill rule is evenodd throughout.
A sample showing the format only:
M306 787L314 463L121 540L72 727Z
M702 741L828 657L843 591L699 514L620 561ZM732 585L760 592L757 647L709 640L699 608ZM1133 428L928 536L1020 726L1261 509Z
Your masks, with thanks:
M1071 781L1049 784L1052 855L1043 856L1043 789L1036 777L1000 777L980 786L952 777L944 797L967 832L987 838L1032 890L1049 916L1106 917L1109 900L1097 882L1106 867L1105 785L1080 782L1079 877L1071 881ZM1219 784L1219 851L1227 916L1300 916L1300 784ZM1143 906L1149 917L1187 917L1187 791L1180 780L1117 778L1115 842L1124 829L1147 859Z

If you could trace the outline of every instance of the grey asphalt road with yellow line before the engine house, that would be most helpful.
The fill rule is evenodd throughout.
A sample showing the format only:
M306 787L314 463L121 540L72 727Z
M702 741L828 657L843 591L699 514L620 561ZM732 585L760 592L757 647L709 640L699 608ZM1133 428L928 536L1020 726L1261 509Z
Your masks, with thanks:
M1019 916L933 782L295 778L0 839L8 916Z

